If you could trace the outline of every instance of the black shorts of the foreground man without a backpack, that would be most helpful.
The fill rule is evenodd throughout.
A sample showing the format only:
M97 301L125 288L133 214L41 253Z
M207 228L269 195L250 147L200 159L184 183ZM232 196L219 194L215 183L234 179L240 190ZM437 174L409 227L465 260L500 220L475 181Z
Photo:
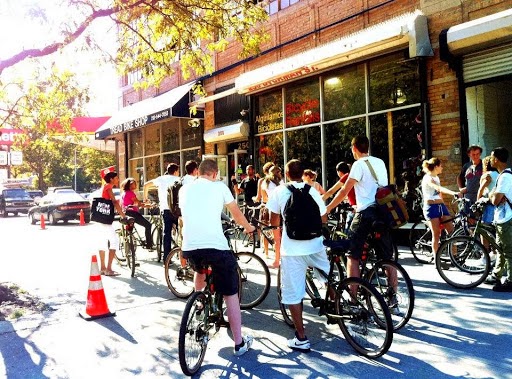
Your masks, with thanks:
M213 285L221 295L238 293L238 265L231 250L197 249L183 252L194 271L205 266L212 267Z

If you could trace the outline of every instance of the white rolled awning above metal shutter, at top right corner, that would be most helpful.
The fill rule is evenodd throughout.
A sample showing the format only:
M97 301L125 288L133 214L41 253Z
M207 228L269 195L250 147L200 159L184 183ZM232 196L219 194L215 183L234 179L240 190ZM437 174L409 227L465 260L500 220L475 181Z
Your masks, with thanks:
M512 9L455 25L446 31L453 55L480 51L512 41Z

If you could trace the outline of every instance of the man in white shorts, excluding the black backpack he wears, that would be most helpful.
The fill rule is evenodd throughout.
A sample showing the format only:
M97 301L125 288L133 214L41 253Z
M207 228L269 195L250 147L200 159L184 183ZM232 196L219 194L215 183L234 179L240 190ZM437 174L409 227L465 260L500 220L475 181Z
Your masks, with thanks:
M303 167L299 160L292 159L286 164L285 173L290 183L296 188L304 188L302 182ZM314 188L309 193L315 200L326 221L326 207L322 196ZM286 202L291 196L290 190L285 185L279 185L267 202L267 208L271 212L270 223L279 226L279 215L284 217ZM284 219L283 225L285 225ZM282 233L281 241L281 294L282 303L288 305L295 325L295 337L288 340L288 347L293 350L307 352L311 344L306 337L302 319L302 299L306 294L306 271L308 267L316 267L324 272L329 272L329 261L323 246L323 237L311 240L294 240L286 232Z

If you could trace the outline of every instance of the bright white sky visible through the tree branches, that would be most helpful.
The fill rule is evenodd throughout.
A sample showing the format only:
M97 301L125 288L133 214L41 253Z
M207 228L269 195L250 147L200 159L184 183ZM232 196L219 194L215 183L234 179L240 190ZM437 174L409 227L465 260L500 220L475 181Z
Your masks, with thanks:
M23 49L42 48L60 41L58 32L72 14L65 4L63 0L0 0L0 59L11 57ZM44 13L38 9L44 9ZM45 17L48 23L44 22ZM92 25L97 38L109 49L113 49L115 43L111 26L107 20L96 20ZM73 51L75 46L42 59L42 64L55 62L59 67L71 68L77 73L80 83L90 89L92 101L86 109L89 116L112 115L117 111L119 96L115 69L102 65L97 54ZM33 60L30 61L5 70L2 76L28 78L34 64Z

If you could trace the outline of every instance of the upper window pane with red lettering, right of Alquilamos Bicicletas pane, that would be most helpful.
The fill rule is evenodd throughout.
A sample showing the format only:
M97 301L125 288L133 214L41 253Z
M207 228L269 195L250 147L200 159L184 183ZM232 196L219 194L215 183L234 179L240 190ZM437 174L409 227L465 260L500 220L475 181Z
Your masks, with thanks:
M317 78L286 88L285 99L287 128L320 122L320 90Z

